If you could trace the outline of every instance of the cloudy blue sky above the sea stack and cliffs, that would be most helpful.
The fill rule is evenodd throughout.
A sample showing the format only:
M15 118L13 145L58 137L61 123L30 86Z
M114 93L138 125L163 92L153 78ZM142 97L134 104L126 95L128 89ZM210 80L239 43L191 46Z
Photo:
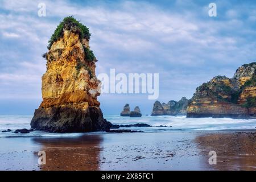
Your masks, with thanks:
M217 16L209 16L209 3ZM46 16L38 16L38 5ZM191 98L217 75L255 61L255 1L0 0L0 114L33 114L42 102L48 40L73 15L92 36L96 73L159 73L160 102ZM101 94L104 114L128 103L150 114L147 94Z

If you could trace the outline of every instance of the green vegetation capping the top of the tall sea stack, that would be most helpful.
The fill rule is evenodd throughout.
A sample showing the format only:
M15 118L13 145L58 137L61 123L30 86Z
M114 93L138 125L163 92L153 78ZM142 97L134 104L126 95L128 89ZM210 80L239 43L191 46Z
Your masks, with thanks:
M60 37L63 36L63 30L69 30L71 32L78 32L80 39L88 39L90 40L90 32L89 28L84 26L84 24L77 21L73 16L68 16L60 22L59 26L57 26L56 30L51 36L49 40L48 49L51 48L53 42L57 41Z

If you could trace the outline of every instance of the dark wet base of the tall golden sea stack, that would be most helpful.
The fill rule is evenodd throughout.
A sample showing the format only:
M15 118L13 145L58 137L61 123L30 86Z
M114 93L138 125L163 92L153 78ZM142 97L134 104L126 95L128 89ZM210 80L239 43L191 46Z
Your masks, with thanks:
M85 133L106 131L111 123L103 118L100 107L74 108L72 105L53 106L35 110L32 129L52 133Z

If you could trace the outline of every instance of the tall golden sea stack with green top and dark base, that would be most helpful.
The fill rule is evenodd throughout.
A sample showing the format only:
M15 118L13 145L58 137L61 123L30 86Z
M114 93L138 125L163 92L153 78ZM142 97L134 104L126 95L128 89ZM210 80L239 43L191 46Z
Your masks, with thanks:
M95 75L96 57L89 29L72 16L64 18L49 40L47 71L42 77L43 101L31 127L56 133L109 130L103 118Z

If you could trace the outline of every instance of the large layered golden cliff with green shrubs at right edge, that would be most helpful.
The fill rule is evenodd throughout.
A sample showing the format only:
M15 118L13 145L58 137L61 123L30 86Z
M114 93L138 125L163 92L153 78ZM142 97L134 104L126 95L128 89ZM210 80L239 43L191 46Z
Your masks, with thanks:
M187 117L255 118L256 63L244 64L233 78L216 76L196 89Z

